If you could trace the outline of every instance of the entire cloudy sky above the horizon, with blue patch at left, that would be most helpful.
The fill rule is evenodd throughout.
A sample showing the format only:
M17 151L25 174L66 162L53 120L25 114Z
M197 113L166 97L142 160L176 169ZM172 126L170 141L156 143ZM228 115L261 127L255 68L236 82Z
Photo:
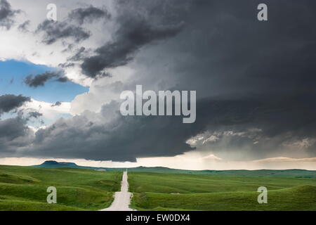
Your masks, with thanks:
M316 169L316 3L261 3L0 0L0 164ZM121 115L136 85L196 121Z

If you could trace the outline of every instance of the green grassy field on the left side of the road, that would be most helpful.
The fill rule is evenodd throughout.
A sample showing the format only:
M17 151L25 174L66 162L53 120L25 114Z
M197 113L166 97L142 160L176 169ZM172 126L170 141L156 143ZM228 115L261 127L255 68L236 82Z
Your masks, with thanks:
M100 210L118 191L121 172L0 166L0 210ZM57 204L46 203L48 186Z

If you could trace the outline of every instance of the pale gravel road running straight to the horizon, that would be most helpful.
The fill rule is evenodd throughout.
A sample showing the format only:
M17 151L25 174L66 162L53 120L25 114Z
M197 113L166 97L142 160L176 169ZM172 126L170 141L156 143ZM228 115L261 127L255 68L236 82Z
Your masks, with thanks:
M132 193L129 192L129 182L127 181L127 172L123 173L121 180L121 191L118 191L114 195L114 201L112 205L100 211L136 211L129 207L131 203Z

